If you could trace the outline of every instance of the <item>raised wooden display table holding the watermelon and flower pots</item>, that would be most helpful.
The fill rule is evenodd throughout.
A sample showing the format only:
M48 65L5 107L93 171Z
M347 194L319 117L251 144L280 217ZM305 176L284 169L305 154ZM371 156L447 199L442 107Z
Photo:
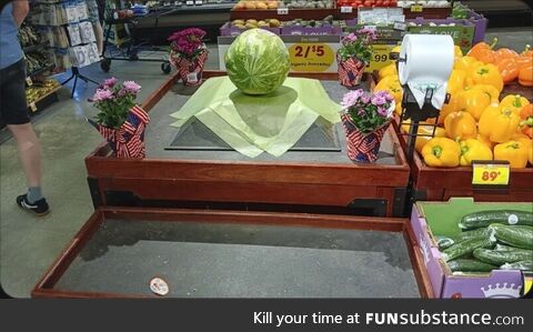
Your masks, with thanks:
M205 71L204 78L223 76ZM346 91L336 73L291 73L322 80L333 100ZM228 149L168 151L175 134L170 113L192 90L175 84L174 74L144 103L152 117L147 131L147 158L118 159L101 144L86 159L94 207L175 207L273 210L365 215L403 215L409 164L392 125L376 163L348 159L345 137L336 124L339 150L288 151L280 158L249 159ZM178 90L178 91L177 91ZM330 95L331 97L331 95ZM199 140L204 139L200 137ZM388 151L384 151L388 150Z

